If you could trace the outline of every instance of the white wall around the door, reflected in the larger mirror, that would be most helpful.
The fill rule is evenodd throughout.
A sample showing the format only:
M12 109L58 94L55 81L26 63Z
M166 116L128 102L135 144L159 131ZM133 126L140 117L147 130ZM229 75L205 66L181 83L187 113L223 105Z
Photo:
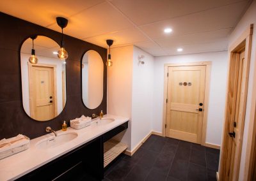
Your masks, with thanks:
M20 54L20 66L21 66L21 82L22 82L22 102L25 112L30 115L29 111L29 81L28 81L28 59L29 54ZM63 110L62 105L62 69L63 61L56 61L56 59L50 57L41 57L38 58L38 64L56 64L56 81L57 81L57 100L58 100L58 115Z

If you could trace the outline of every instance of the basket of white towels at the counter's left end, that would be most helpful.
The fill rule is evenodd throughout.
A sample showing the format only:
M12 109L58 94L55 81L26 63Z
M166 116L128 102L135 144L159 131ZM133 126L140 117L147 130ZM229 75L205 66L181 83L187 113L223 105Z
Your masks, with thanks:
M0 159L12 156L29 148L30 140L27 136L18 134L15 137L0 140Z

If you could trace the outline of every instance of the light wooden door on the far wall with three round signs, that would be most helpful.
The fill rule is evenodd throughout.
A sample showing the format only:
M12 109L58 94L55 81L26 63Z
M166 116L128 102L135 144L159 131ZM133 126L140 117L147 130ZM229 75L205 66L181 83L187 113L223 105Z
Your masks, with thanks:
M168 67L166 136L201 143L204 91L205 66Z

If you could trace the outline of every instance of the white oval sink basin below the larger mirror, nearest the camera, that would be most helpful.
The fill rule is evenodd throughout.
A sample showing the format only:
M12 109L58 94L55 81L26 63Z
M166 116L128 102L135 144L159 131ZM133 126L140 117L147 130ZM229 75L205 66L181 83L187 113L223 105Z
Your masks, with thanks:
M35 147L41 149L53 148L67 143L68 141L71 141L76 137L77 133L75 132L59 133L57 134L57 136L51 136L50 138L38 141Z

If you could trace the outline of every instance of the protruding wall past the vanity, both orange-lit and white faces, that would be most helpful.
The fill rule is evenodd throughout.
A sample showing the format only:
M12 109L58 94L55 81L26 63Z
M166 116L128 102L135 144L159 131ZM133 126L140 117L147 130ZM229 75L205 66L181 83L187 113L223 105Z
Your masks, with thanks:
M138 64L144 55L145 64ZM133 150L152 131L154 57L138 47L111 49L108 68L108 113L130 119L125 133L116 136Z

